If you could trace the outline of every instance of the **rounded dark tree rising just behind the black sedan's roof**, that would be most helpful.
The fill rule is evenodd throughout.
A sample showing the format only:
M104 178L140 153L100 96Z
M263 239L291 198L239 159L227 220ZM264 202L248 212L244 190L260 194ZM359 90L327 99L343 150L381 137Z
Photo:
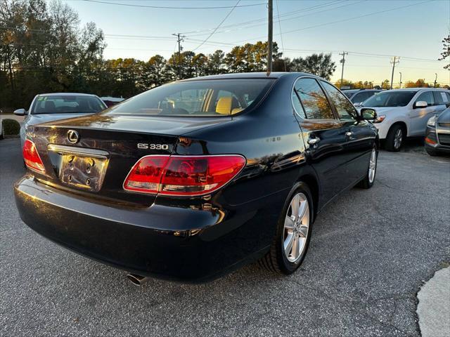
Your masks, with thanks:
M320 53L309 55L306 58L294 58L290 64L290 70L309 72L324 79L330 79L336 70L336 65L331 60L331 54Z

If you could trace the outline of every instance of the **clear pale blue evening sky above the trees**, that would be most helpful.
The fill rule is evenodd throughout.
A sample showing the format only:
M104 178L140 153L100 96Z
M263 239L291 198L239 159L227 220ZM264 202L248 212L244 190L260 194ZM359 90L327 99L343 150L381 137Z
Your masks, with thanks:
M103 29L105 58L148 60L157 53L169 58L177 50L174 33L184 35L184 51L205 54L266 41L266 0L64 1L82 25L92 21ZM394 84L399 72L403 84L419 78L432 83L435 74L438 83L450 84L450 71L443 69L450 60L437 61L449 30L450 0L274 0L279 51L289 58L332 53L333 81L341 77L339 53L346 51L345 79L390 80L390 62L399 56Z

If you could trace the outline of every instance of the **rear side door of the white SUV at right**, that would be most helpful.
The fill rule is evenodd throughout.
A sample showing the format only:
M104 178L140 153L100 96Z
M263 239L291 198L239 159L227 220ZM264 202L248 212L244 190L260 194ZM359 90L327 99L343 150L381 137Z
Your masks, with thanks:
M416 103L419 101L425 101L428 107L416 107ZM409 124L409 136L424 136L425 128L427 127L427 121L435 114L435 98L433 92L428 90L420 93L416 100L414 100L413 109L409 113L411 118Z

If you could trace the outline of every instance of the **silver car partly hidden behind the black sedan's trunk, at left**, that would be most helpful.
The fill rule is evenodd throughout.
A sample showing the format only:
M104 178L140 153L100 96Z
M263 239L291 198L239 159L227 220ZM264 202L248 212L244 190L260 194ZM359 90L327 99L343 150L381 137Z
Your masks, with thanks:
M30 109L15 110L14 114L25 116L20 127L20 143L23 147L28 126L47 121L58 121L84 114L95 114L105 110L107 106L96 95L87 93L43 93L36 95Z

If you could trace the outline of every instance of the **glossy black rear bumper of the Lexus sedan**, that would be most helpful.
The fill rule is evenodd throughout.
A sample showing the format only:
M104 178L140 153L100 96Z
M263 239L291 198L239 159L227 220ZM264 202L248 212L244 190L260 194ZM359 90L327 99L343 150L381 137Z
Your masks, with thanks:
M265 220L276 228L264 211L111 207L32 176L14 190L23 221L53 242L130 272L183 282L205 282L259 258L273 233L258 226Z

